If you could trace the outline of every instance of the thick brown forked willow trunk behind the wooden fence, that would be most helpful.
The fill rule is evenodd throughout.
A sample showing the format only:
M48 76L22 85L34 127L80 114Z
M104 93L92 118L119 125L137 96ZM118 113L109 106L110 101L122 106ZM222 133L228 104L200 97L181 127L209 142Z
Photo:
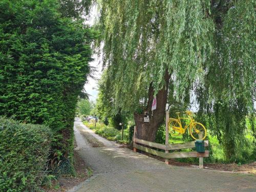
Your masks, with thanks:
M137 138L147 140L147 141L155 141L156 132L159 126L162 124L165 116L165 108L167 103L167 95L168 95L168 83L169 83L168 71L165 71L164 79L165 79L165 88L161 89L157 95L157 108L153 112L152 116L152 102L154 99L154 89L152 83L150 84L150 88L148 90L148 101L147 108L144 112L148 112L150 116L150 122L144 122L144 112L143 114L134 114L135 124L137 126Z

